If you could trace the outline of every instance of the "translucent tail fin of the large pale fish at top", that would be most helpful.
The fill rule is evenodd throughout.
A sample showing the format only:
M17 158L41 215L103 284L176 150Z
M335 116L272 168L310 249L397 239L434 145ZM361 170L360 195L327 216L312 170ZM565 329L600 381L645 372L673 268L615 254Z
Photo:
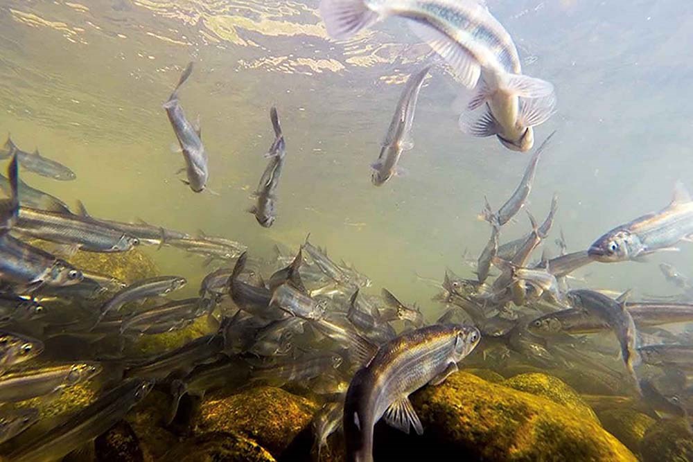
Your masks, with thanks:
M319 10L328 35L335 39L353 37L378 21L378 13L363 0L322 0Z

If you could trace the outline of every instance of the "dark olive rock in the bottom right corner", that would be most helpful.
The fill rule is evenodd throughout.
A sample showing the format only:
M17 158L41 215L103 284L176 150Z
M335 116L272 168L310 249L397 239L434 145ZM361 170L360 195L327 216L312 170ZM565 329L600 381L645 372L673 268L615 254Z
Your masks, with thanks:
M651 425L640 442L644 462L693 461L693 435L683 419L662 420Z

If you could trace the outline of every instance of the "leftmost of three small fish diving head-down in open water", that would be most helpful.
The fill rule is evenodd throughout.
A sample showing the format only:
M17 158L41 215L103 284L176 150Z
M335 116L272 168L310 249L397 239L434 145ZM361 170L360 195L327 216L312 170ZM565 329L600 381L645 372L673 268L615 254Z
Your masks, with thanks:
M192 62L183 70L178 84L173 89L173 93L170 94L168 100L164 103L164 109L183 152L183 159L186 165L184 170L188 179L187 181L181 181L190 186L193 192L202 193L204 188L207 187L207 181L209 180L207 151L204 149L204 145L202 145L200 127L194 127L188 121L178 100L178 89L188 80L191 73L193 73Z

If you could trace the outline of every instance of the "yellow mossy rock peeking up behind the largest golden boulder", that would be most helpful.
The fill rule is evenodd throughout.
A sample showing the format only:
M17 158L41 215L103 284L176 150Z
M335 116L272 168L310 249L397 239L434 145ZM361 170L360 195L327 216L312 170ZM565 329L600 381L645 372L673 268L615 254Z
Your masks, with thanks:
M599 423L592 408L568 385L556 377L540 373L520 374L502 382L505 387L543 396L568 409L579 412L581 416Z

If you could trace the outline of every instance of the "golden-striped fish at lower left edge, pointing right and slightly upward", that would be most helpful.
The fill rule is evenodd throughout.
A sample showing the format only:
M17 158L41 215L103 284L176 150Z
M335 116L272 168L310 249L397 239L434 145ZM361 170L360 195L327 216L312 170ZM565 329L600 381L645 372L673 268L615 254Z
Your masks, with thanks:
M28 369L0 376L0 402L46 396L86 382L102 371L96 363L75 363Z

